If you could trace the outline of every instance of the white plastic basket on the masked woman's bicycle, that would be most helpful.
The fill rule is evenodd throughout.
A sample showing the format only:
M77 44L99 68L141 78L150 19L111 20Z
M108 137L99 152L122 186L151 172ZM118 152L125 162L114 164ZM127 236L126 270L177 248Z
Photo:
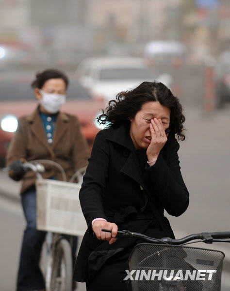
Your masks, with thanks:
M82 236L87 228L79 201L81 184L37 179L37 229Z

